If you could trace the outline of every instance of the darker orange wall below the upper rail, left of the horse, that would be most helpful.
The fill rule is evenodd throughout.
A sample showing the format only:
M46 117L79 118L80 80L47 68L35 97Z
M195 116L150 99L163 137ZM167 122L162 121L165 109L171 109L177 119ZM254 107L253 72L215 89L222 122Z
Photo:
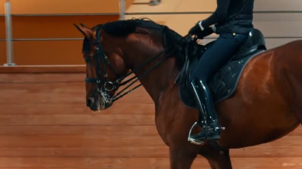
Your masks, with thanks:
M15 16L13 37L23 38L82 38L73 23L94 26L117 20L118 15L108 16ZM4 42L0 43L4 48ZM18 65L84 64L81 57L82 41L14 41L14 61ZM1 58L5 55L1 52ZM5 61L5 60L4 60ZM3 60L0 60L3 64Z

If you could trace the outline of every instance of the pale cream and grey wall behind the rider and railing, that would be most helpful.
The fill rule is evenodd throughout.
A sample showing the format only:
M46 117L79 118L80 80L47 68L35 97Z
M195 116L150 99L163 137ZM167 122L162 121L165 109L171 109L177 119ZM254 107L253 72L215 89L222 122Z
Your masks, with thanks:
M216 8L216 0L161 0L156 6L133 4L127 12L211 12ZM149 0L135 0L135 2L149 2ZM267 37L269 48L302 39L302 0L255 0L254 11L275 13L254 13L254 27L261 30ZM278 11L278 12L276 12ZM296 11L297 13L282 11ZM299 13L301 11L301 13ZM280 13L282 12L282 13ZM126 15L132 17L148 17L155 22L164 23L181 35L198 21L210 14L156 14L156 15ZM216 37L213 34L211 36ZM280 37L269 39L269 37ZM207 42L206 40L205 42Z

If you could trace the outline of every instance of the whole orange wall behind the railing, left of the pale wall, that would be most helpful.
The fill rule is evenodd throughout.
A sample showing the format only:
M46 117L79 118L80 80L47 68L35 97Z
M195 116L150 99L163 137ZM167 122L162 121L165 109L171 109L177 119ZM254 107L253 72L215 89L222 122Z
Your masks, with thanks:
M3 13L5 0L0 0ZM103 13L119 12L118 0L11 0L13 14L22 13ZM127 6L133 0L127 0ZM25 3L26 2L26 3ZM92 4L83 7L85 4ZM39 6L39 7L37 7ZM1 11L2 10L2 11ZM74 23L92 27L119 19L119 15L94 16L13 16L14 39L82 38ZM4 17L0 16L0 39L5 39ZM14 41L13 55L17 65L84 64L82 41ZM6 63L5 42L0 42L0 65Z

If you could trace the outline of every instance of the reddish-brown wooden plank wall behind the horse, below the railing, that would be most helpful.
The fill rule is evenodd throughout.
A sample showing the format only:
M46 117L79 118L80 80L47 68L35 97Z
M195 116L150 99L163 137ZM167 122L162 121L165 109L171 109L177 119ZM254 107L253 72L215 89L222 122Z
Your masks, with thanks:
M0 169L168 169L167 150L142 87L93 113L81 72L0 74ZM230 153L233 169L302 169L302 127Z

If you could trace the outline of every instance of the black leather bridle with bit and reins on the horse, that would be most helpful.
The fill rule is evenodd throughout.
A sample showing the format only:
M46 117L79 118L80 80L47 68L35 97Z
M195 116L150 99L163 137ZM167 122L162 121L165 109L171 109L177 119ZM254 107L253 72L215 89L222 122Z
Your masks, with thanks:
M166 27L165 27L166 28ZM164 29L165 29L164 28ZM106 64L109 66L109 69L115 74L115 76L117 77L117 73L116 71L113 69L110 61L108 60L107 55L105 54L102 45L101 45L101 41L100 41L100 29L101 29L101 25L99 25L96 28L96 52L95 52L95 58L96 58L96 66L95 66L95 71L96 71L96 78L89 78L86 77L85 78L85 82L86 83L93 83L93 84L97 84L97 91L100 94L100 96L102 96L102 101L105 102L105 104L112 104L114 101L120 99L121 97L123 97L124 95L130 93L131 91L135 90L136 88L140 87L142 84L138 84L135 87L129 89L128 91L124 92L127 88L129 88L131 85L133 85L134 83L136 83L139 78L142 78L143 76L147 75L148 73L150 73L154 68L156 68L160 63L162 63L163 60L165 60L170 54L172 54L172 52L174 52L174 50L176 49L176 45L180 42L183 42L183 39L187 39L188 37L190 37L189 35L186 35L181 41L176 42L175 45L172 45L172 47L170 47L167 50L163 50L161 52L159 52L158 54L156 54L155 56L151 57L150 59L148 59L147 61L145 61L144 63L142 63L141 65L139 65L136 69L130 71L129 73L127 73L125 76L117 79L116 81L112 82L110 80L108 80L108 74L106 71ZM164 30L163 30L164 32ZM127 81L123 82L122 81L127 78L128 76L130 76L131 74L135 73L138 71L138 69L141 69L142 67L144 67L145 65L147 65L148 63L150 63L152 60L157 59L161 54L166 53L166 55L164 57L162 57L154 66L152 66L149 70L147 70L146 72L144 72L142 75L140 75L140 77L134 76L130 79L128 79ZM102 66L102 70L100 68L100 66ZM101 79L101 73L103 73L104 75L104 79ZM136 79L135 81L131 82L132 80ZM128 84L130 83L130 84ZM125 88L123 88L121 91L119 91L118 93L116 93L113 96L110 96L110 94L108 94L108 91L116 91L118 90L118 88L122 85L128 84ZM124 93L123 93L124 92Z

